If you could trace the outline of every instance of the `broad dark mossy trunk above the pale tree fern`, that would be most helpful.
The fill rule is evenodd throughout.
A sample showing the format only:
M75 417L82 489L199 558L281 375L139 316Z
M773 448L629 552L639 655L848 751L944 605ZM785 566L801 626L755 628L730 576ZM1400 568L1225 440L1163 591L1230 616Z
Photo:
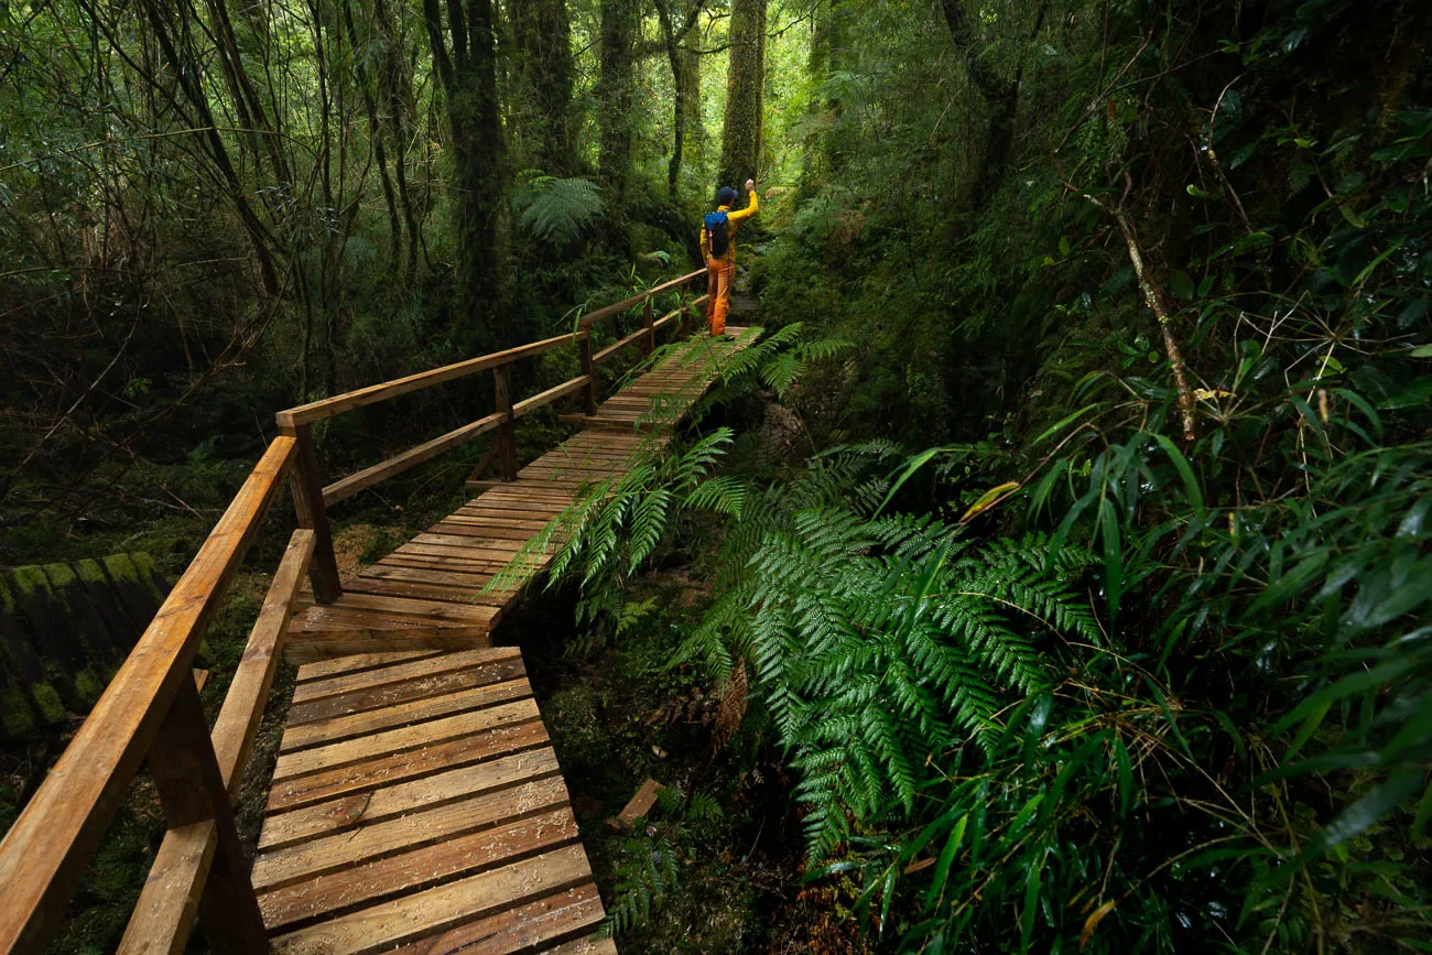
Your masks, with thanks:
M571 117L576 66L567 0L523 0L511 4L517 43L518 122L530 146L530 160L550 176L577 172Z

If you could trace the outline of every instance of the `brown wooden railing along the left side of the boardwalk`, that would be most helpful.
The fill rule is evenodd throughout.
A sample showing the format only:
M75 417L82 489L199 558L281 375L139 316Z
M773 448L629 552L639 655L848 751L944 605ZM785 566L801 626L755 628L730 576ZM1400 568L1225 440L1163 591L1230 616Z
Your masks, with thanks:
M692 272L584 315L571 335L281 411L279 437L249 472L74 739L0 842L0 951L40 951L60 928L64 908L140 763L149 765L168 830L120 951L180 952L196 916L215 951L268 951L233 822L233 799L304 576L312 580L319 603L332 601L341 593L328 505L487 431L497 431L503 478L516 478L514 422L534 408L576 392L583 395L587 412L594 411L596 365L637 342L650 354L660 328L680 321L684 311L705 302L705 296L695 301L686 296L700 276L705 272ZM672 291L682 291L680 308L654 321L653 299ZM636 306L643 309L642 328L593 354L593 326ZM581 374L514 401L513 364L564 345L579 348ZM485 369L494 375L497 411L324 487L311 434L315 421ZM274 574L213 730L206 732L190 666L285 477L299 530L294 531Z

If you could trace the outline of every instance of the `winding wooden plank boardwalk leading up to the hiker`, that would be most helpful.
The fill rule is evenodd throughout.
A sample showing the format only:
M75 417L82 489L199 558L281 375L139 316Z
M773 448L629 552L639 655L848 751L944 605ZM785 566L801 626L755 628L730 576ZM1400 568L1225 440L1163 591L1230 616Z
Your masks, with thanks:
M342 584L299 597L299 667L252 883L279 952L614 952L561 767L478 594L591 481L664 447L735 341L700 336L584 430ZM537 570L548 556L536 556Z

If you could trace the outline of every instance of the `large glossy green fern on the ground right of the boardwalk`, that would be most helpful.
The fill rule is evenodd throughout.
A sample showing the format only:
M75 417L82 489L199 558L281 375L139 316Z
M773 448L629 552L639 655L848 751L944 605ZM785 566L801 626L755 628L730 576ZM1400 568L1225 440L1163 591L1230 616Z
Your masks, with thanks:
M891 448L841 448L753 500L726 537L719 597L683 649L750 663L802 770L809 852L848 820L909 812L941 750L994 749L998 710L1051 679L1041 634L1098 643L1070 587L1087 556L1028 535L975 547L931 517L872 515Z

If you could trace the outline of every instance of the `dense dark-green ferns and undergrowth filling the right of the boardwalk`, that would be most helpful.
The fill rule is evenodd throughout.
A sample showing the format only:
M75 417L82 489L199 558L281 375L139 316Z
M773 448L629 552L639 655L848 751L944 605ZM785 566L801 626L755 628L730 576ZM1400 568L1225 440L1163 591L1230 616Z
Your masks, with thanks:
M1426 949L1432 76L1376 6L992 24L965 56L1027 79L978 196L909 94L945 24L845 7L842 182L756 282L855 344L750 369L831 450L712 477L712 432L567 556L620 614L666 521L725 515L679 659L749 680L872 938Z

